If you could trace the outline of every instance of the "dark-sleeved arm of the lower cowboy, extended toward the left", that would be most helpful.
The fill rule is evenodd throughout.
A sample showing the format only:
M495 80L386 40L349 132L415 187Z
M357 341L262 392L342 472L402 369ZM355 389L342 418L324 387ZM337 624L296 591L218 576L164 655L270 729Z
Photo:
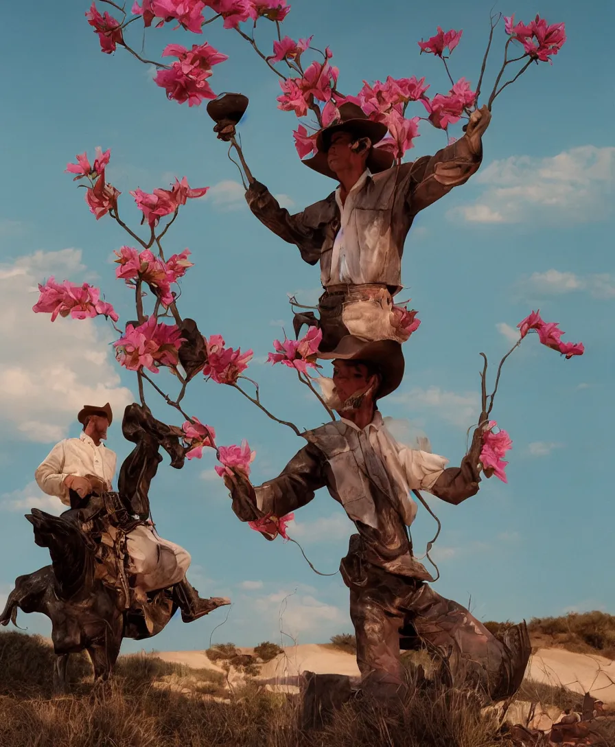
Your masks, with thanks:
M278 477L255 487L246 480L227 481L233 510L241 521L253 521L254 506L263 514L281 517L310 503L314 492L326 484L325 458L312 444L293 456Z

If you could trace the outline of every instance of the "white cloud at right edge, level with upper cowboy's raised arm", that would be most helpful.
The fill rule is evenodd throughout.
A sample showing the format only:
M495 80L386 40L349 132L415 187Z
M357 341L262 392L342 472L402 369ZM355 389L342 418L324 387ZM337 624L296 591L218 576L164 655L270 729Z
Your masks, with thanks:
M608 210L615 181L615 147L579 146L548 158L528 155L492 161L475 176L485 190L473 205L449 215L468 223L584 222Z

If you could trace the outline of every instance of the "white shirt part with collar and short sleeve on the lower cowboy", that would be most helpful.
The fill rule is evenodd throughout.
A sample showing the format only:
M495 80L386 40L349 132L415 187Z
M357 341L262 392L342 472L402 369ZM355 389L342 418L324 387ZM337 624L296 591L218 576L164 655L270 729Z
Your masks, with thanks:
M410 526L416 517L416 503L410 498L410 491L429 491L449 460L437 454L410 449L404 444L399 444L384 425L382 415L378 411L375 412L372 422L363 429L346 418L341 418L341 421L364 434L372 449L387 466L387 471L399 486L404 521Z

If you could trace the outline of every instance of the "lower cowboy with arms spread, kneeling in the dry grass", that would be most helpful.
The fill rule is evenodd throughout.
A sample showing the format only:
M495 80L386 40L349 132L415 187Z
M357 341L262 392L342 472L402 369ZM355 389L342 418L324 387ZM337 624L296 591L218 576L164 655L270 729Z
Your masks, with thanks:
M273 480L255 487L239 473L228 477L233 509L242 521L266 518L261 526L271 529L319 488L342 504L358 530L340 572L350 589L363 689L396 695L403 683L400 648L424 645L440 653L453 684L477 686L487 699L506 698L519 687L531 653L525 623L500 639L437 594L426 583L434 579L413 556L408 533L416 515L411 491L425 490L453 505L478 492L482 431L475 430L458 468L393 438L377 400L402 380L399 347L376 341L354 358L334 360L328 403L341 419L302 433L308 444ZM275 536L271 529L268 539Z

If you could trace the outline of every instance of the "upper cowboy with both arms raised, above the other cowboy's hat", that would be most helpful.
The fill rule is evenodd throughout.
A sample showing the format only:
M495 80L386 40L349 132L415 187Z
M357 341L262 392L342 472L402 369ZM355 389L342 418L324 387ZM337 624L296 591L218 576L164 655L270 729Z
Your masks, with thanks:
M319 350L333 358L337 350L349 350L350 343L338 349L348 335L355 342L408 338L392 312L393 296L402 289L405 238L420 210L478 170L491 117L487 107L478 109L455 143L433 156L393 165L393 154L375 147L387 126L369 120L350 102L339 111L340 120L317 134L316 155L303 161L340 182L334 192L295 215L254 179L246 192L261 223L299 247L308 264L320 263L319 320L298 314L296 332L301 323L318 323Z

